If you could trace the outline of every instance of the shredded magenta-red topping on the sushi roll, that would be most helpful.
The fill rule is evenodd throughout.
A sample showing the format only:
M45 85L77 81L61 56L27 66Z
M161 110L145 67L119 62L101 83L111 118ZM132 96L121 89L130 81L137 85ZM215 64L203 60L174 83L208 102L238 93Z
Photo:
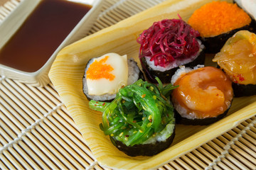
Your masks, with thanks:
M195 55L200 34L180 19L164 19L144 30L137 42L141 45L139 58L151 57L155 66L167 67L171 62Z

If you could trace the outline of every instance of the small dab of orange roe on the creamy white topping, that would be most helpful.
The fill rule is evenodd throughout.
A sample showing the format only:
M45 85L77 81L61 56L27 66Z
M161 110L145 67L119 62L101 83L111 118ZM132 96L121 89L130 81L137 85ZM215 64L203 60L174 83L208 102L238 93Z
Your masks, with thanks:
M95 60L90 64L90 67L87 69L86 75L87 79L109 79L110 81L114 80L114 75L110 74L113 67L110 64L104 64L109 56L104 57L102 60Z

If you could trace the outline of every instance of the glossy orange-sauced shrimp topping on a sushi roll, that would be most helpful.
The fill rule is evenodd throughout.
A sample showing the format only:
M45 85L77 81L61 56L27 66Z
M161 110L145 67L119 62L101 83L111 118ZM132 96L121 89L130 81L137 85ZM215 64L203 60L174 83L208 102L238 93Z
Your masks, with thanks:
M230 79L215 67L203 67L179 78L174 85L174 106L182 107L195 118L215 118L231 104L233 89Z

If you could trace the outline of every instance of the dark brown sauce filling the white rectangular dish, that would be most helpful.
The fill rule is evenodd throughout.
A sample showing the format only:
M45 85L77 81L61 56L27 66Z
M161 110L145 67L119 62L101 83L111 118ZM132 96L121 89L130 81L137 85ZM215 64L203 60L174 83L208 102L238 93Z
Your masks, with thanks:
M92 6L43 0L0 50L0 64L36 72Z

